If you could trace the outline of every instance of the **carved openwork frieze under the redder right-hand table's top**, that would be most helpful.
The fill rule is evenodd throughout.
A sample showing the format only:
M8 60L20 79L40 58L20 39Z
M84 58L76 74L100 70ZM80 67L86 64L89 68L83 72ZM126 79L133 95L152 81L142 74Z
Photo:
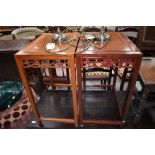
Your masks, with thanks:
M134 68L134 59L104 59L104 58L84 58L81 60L83 68L110 68L110 67L127 67Z

